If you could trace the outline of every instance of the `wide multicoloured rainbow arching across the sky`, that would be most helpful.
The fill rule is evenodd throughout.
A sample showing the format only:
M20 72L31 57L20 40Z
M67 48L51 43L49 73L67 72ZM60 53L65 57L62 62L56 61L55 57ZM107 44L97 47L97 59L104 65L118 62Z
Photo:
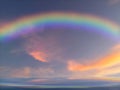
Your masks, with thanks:
M89 14L50 12L24 16L4 25L0 28L0 41L19 37L24 32L32 32L31 28L38 26L42 27L42 25L46 23L52 25L63 24L68 26L91 28L90 30L95 29L106 36L119 38L120 40L120 27L116 23L107 19Z

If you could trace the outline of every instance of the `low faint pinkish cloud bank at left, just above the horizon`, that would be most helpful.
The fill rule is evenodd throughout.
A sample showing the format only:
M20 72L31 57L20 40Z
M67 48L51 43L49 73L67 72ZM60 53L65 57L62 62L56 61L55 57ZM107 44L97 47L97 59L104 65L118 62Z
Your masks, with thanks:
M0 78L53 78L53 74L50 67L0 67Z

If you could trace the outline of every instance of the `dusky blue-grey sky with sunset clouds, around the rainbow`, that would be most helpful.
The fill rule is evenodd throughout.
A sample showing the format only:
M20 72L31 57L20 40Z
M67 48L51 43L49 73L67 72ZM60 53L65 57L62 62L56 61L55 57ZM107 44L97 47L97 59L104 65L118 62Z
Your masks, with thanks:
M91 15L101 20L100 23L107 20L118 27L118 32L114 35L109 30L105 33L102 28L98 31L99 27L92 30L66 23L44 23L40 27L28 24L25 28L28 32L15 28L21 32L11 34L14 38L0 39L0 84L120 84L119 8L120 0L1 0L0 33L9 32L9 28L17 22L24 23L22 18L45 16L44 13L48 17L49 13L53 13L54 17L54 13L58 12L68 13L68 17L69 14ZM92 22L94 19L91 19ZM108 24L109 27L111 25Z

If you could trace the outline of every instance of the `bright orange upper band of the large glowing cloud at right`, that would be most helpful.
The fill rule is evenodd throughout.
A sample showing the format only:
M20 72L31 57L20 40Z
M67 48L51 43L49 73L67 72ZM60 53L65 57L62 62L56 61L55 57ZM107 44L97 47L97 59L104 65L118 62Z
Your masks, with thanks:
M115 49L118 49L119 45L115 46ZM120 63L120 50L114 50L104 56L103 58L97 60L94 63L90 63L87 65L79 64L73 60L68 61L68 70L70 71L86 71L92 69L104 69L107 67L111 67Z

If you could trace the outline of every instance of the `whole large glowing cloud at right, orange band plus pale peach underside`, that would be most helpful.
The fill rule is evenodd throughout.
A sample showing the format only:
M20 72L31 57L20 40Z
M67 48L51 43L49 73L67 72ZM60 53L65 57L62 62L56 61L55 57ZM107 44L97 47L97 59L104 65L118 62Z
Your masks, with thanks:
M75 60L67 62L67 68L72 72L70 79L96 78L100 80L116 80L118 78L116 75L120 74L119 65L120 44L113 46L108 54L96 62L87 64L81 64Z

